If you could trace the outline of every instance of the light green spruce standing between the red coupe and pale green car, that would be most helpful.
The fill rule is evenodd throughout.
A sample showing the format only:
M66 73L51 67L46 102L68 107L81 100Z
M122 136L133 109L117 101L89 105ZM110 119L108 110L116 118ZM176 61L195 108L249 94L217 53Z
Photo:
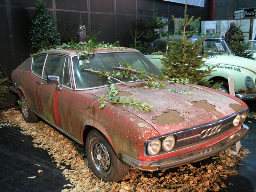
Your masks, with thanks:
M182 36L177 37L177 39L172 38L172 41L162 37L170 49L169 54L162 54L165 57L162 59L163 72L172 78L188 78L191 83L212 87L211 82L205 80L205 77L211 73L212 68L200 69L204 65L203 58L207 57L210 52L205 52L202 57L198 57L199 52L201 52L200 49L203 47L200 44L206 37L193 43L189 41L188 35L195 31L186 31L186 26L192 25L200 19L193 20L193 18L192 16L188 19L187 4L185 5L184 23L179 23L172 15L174 22L182 28L178 28Z

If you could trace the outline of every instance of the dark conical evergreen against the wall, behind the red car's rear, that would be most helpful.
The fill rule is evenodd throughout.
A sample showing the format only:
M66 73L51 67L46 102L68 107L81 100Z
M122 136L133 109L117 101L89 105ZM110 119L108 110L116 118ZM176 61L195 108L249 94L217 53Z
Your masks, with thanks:
M42 0L36 3L28 38L31 53L35 53L45 47L60 45L60 33L57 31L55 23Z

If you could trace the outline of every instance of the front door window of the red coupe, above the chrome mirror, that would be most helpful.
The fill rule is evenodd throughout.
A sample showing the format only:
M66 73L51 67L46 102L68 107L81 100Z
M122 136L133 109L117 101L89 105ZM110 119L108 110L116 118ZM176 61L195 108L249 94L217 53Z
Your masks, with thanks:
M62 83L64 63L66 56L62 55L51 55L49 54L45 66L43 78L47 78L48 75L56 75L60 77L60 82Z

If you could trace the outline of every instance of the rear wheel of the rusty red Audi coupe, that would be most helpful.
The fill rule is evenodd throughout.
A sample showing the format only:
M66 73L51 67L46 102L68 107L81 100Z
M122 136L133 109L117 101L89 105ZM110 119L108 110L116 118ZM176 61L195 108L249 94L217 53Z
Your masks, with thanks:
M28 103L26 98L24 97L23 93L20 93L20 111L24 118L24 120L28 123L35 123L38 121L38 116L33 113L30 108L28 107Z

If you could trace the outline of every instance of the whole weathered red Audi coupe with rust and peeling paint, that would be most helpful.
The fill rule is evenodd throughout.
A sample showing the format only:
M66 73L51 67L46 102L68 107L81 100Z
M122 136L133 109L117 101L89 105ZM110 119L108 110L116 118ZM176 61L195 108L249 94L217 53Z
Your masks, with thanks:
M122 180L129 166L154 171L199 161L249 132L243 124L248 106L227 93L186 83L165 82L165 88L158 88L148 86L147 79L134 82L129 76L98 73L130 70L140 77L143 70L151 78L162 75L137 50L94 48L87 58L79 54L83 53L50 50L30 57L12 72L10 89L20 96L25 121L41 117L85 145L90 167L102 180ZM124 63L140 70L125 68ZM111 103L99 108L109 82L120 100L133 98L154 106L153 111Z

